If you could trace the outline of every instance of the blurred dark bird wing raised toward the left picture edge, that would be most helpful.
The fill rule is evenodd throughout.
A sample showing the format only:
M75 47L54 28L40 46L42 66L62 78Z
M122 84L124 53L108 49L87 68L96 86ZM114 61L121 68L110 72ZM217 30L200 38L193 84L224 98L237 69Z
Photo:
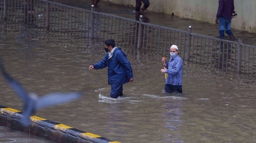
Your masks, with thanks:
M0 68L2 71L2 75L5 78L6 82L9 83L9 85L15 90L16 94L22 98L24 102L29 100L29 97L27 96L26 90L20 85L19 82L17 82L15 79L12 78L6 71L5 68L3 67L3 60L0 59Z

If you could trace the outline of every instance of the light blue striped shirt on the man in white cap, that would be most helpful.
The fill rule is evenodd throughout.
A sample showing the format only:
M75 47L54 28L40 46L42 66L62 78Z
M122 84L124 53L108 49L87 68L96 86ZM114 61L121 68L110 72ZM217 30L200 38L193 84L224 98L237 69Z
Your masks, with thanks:
M166 63L168 69L165 70L168 73L166 78L166 84L169 85L182 85L182 72L183 72L183 61L180 56L176 55L171 58L169 63Z

